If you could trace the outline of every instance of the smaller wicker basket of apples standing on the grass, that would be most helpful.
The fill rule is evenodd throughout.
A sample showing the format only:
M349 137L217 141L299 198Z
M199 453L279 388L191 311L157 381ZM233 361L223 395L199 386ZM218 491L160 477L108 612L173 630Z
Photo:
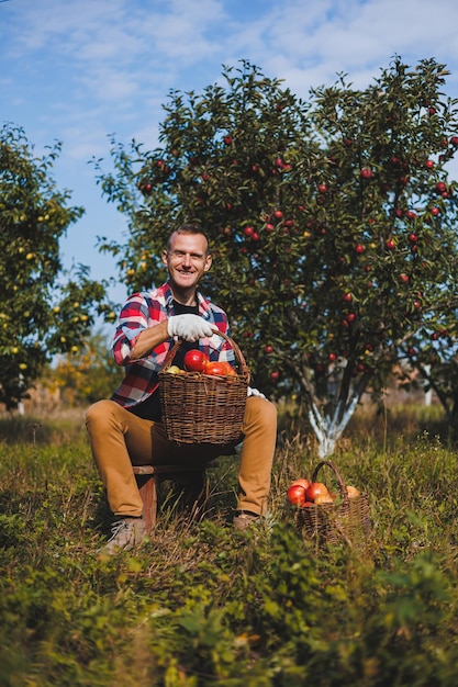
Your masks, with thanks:
M350 545L361 544L370 534L369 502L367 494L348 498L347 488L340 473L331 461L322 461L313 472L312 482L317 478L320 470L328 466L338 482L339 499L335 504L308 506L297 511L297 523L308 540L320 544L347 542ZM322 480L321 480L322 481Z

